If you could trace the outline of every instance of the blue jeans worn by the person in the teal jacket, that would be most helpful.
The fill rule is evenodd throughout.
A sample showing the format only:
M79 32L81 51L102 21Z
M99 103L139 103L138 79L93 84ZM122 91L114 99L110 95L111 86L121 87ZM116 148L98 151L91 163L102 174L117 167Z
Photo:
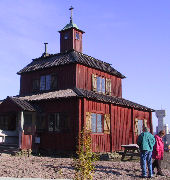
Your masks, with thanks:
M149 176L152 176L152 151L141 151L140 153L142 176L146 176L146 162L148 166Z

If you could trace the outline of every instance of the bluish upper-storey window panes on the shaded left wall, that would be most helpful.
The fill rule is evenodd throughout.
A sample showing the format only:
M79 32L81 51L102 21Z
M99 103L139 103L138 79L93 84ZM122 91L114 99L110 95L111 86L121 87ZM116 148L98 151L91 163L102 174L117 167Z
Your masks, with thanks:
M50 90L51 89L51 75L45 75L40 77L40 90Z

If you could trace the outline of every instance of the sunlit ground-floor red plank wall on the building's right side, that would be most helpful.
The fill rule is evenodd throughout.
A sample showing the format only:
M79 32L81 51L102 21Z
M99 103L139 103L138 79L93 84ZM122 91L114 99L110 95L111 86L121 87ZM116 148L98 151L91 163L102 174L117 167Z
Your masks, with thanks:
M91 134L92 150L94 152L109 152L122 150L123 144L134 144L137 140L135 131L135 118L147 119L147 125L152 131L151 112L133 110L132 108L120 107L92 100L81 101L81 113L84 116L82 124L86 125L86 112L110 114L111 133ZM79 117L81 121L82 117ZM82 126L81 126L82 127Z

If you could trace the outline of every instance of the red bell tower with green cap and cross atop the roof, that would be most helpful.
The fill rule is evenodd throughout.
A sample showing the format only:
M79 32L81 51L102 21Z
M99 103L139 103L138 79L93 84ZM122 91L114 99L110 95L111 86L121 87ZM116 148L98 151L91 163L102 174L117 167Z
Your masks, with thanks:
M59 31L60 53L64 53L73 49L75 51L82 52L82 35L84 32L73 23L73 9L74 8L72 6L69 8L71 11L70 23L67 24L61 31Z

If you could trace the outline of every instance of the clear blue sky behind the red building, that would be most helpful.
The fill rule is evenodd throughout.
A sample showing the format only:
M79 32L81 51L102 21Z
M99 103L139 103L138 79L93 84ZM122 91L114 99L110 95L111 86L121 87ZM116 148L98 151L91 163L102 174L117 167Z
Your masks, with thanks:
M0 0L0 99L19 94L16 73L44 52L60 51L58 31L73 22L85 31L83 53L126 76L123 98L165 109L170 128L169 0ZM153 113L153 127L157 118Z

